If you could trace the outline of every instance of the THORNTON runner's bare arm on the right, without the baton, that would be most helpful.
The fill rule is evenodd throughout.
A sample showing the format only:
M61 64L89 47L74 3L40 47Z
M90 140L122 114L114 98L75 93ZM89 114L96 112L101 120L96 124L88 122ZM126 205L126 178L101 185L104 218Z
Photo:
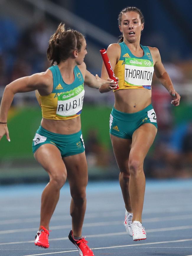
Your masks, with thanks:
M171 97L173 98L171 103L174 106L179 106L180 95L175 91L173 83L171 82L171 79L168 73L166 72L165 67L162 64L159 50L157 48L152 48L152 51L154 53L154 58L156 60L154 64L154 72L157 78L162 83L162 85L167 89L167 91L170 93Z

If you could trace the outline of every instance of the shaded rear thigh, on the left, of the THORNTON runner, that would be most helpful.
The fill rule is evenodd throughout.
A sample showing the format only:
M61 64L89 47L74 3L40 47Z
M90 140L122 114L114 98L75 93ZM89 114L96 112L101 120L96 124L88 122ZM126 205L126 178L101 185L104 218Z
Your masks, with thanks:
M115 159L120 171L129 173L128 161L132 140L121 139L112 134L110 134L110 139L112 142Z

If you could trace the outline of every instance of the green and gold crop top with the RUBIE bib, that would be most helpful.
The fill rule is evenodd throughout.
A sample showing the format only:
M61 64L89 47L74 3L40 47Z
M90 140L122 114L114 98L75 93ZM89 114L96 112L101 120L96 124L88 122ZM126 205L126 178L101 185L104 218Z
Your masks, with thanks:
M66 84L58 66L49 68L53 74L53 90L41 96L43 118L64 120L79 116L84 98L84 78L77 66L74 67L74 82Z

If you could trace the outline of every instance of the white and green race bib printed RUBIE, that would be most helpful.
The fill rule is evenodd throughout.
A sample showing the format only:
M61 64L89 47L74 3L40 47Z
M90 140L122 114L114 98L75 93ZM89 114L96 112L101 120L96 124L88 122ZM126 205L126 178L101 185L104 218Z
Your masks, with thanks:
M73 116L83 107L84 86L80 85L73 90L58 95L57 111L59 116Z

